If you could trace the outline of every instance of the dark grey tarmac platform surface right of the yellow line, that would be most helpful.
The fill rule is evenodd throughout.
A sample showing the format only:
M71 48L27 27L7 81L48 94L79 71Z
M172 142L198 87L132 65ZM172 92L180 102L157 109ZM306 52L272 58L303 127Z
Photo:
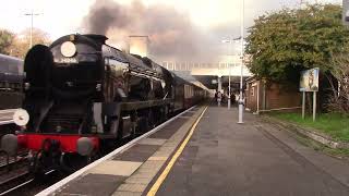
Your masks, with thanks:
M157 195L349 195L347 162L238 110L210 107Z

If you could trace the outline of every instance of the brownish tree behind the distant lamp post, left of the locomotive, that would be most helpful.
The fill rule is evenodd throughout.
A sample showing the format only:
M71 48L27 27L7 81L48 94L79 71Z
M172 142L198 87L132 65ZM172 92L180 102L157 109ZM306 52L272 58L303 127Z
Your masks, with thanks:
M51 41L48 38L48 35L41 29L33 29L33 46L41 44L49 45ZM15 36L13 44L10 49L12 56L24 59L25 54L31 47L31 29L25 29L23 33Z

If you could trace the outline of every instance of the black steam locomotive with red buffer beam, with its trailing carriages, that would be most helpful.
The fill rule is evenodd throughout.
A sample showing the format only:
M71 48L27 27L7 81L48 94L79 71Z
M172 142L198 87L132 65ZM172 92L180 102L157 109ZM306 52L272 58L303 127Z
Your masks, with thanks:
M107 39L67 35L28 51L27 113L17 120L26 125L2 137L4 150L15 155L19 147L29 149L34 170L68 169L75 166L73 157L88 162L205 97L204 89L148 58L106 45Z

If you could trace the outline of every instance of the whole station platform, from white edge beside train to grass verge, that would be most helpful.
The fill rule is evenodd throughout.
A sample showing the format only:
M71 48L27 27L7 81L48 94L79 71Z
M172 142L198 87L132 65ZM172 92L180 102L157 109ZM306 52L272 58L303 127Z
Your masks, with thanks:
M349 195L349 164L236 108L196 107L38 195Z

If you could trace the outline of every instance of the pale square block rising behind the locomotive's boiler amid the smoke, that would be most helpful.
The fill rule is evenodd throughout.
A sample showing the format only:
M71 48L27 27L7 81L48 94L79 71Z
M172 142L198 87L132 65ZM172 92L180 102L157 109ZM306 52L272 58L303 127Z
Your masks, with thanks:
M148 36L130 36L130 53L147 57L148 44Z

